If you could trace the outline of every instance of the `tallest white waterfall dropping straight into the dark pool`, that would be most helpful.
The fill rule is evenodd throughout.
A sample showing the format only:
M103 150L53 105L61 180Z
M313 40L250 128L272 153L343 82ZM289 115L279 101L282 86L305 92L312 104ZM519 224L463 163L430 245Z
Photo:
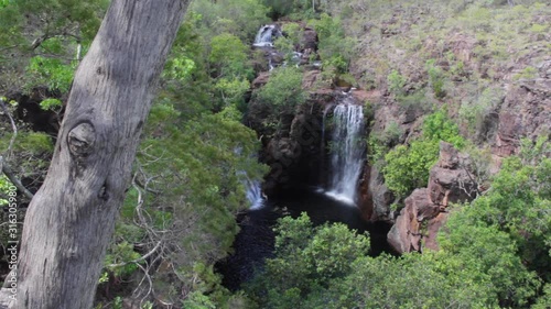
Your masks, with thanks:
M361 106L339 103L333 111L332 177L327 195L354 205L364 166L364 111Z

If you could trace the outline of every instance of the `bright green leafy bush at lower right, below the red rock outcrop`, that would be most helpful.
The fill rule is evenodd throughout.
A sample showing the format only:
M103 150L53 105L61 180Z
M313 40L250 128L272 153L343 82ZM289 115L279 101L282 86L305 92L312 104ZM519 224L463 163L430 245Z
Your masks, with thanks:
M509 234L495 224L484 224L473 211L466 207L454 212L446 223L447 232L440 235L437 255L446 261L443 271L452 280L484 285L486 294L501 304L515 308L526 305L539 280L526 269Z

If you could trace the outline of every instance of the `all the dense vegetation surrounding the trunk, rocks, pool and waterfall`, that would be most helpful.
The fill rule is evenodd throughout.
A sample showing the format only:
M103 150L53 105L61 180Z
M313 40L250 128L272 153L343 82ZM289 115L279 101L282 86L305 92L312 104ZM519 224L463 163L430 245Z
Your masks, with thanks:
M32 192L45 177L74 70L107 5L0 0L0 154ZM249 47L260 25L289 21L276 42L289 57L303 31L292 21L316 30L323 67L316 87L346 80L385 89L404 113L424 115L411 135L390 122L368 141L370 161L404 198L426 185L440 141L487 168L484 123L504 97L496 80L511 57L523 59L512 79L534 78L551 51L550 13L549 3L529 0L195 0L141 136L97 308L122 308L129 296L141 308L550 308L549 136L525 140L493 177L480 172L490 189L453 206L437 252L370 257L369 235L343 224L314 227L301 216L279 221L274 256L242 290L230 293L214 271L231 252L236 214L248 207L246 178L267 173L256 158L257 133L242 124L248 98L268 109L271 134L307 99L294 66L276 68L250 96L256 74L268 69L262 53ZM482 42L472 47L474 59L446 47L456 33ZM32 103L40 109L23 115ZM2 207L11 185L2 174ZM2 250L7 241L2 229Z

